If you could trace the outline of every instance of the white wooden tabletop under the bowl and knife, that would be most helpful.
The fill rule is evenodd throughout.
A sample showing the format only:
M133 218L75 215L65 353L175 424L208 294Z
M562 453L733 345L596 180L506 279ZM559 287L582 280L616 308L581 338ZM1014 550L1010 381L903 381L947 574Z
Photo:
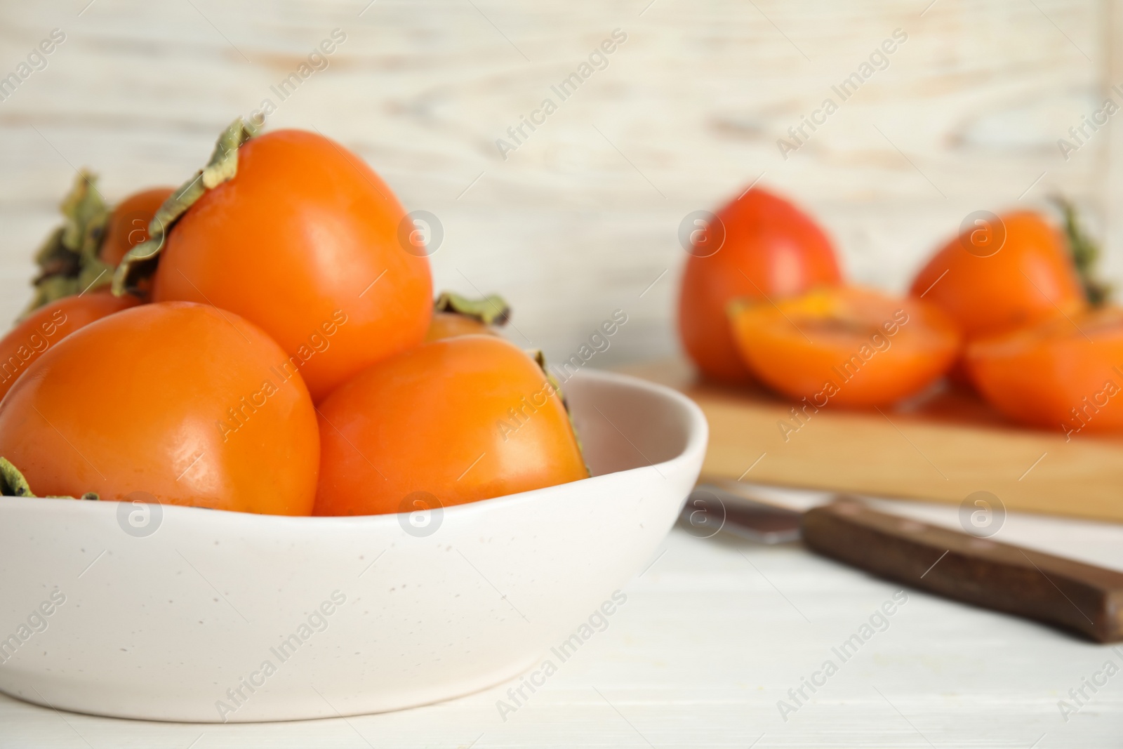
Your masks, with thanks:
M947 505L893 509L958 523ZM1123 527L1011 514L996 538L1123 569ZM1058 701L1071 702L1068 691L1105 661L1123 666L1123 648L906 588L888 627L842 663L832 648L900 590L798 545L676 528L609 628L505 721L496 701L517 683L398 713L247 725L110 720L0 698L0 747L1120 746L1123 674L1086 691L1067 722ZM814 695L804 687L811 700L784 721L777 701L825 659L838 673Z

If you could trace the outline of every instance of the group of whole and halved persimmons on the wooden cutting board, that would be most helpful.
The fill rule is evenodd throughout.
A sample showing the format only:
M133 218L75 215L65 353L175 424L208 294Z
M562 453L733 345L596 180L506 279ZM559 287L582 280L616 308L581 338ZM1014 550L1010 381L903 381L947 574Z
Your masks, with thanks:
M1093 277L1070 204L967 217L897 296L849 284L805 212L752 189L696 234L678 308L709 378L759 382L796 408L880 407L944 377L1016 423L1123 428L1123 309Z

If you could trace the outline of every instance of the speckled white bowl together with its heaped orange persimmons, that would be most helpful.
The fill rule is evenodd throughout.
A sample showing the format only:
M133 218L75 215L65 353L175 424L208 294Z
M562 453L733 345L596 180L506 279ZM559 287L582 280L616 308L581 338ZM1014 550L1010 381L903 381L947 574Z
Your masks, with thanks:
M393 192L319 134L238 120L181 188L110 208L83 173L63 214L0 341L8 694L228 722L540 676L697 477L693 403L563 398L501 299L433 300Z

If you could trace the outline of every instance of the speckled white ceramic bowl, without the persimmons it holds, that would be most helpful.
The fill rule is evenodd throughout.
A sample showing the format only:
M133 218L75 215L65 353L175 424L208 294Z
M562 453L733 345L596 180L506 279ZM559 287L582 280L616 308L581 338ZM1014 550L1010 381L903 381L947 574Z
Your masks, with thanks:
M611 622L675 522L707 431L632 377L587 371L565 391L592 478L428 518L0 500L0 689L121 718L294 720L559 664L550 648Z

